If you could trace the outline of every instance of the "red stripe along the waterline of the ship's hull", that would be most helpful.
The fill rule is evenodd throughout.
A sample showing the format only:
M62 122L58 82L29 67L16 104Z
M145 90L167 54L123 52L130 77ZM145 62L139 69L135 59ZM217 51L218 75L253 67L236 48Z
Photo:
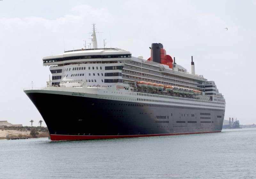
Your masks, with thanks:
M78 135L57 135L50 134L52 141L60 140L93 140L93 139L113 139L113 138L126 138L126 137L151 137L151 136L172 136L172 135L185 135L185 134L200 134L200 133L212 133L221 131L209 131L209 132L189 132L189 133L170 133L170 134L147 134L147 135L116 135L116 136L78 136Z

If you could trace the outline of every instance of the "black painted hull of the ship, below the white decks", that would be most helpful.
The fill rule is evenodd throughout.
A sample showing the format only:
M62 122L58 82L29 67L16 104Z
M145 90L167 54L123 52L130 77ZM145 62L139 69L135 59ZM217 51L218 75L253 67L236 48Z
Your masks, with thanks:
M54 136L90 136L67 138L67 140L83 140L93 139L91 136L118 138L118 136L132 135L218 132L222 129L224 118L224 110L170 105L153 107L135 102L41 92L26 94L42 115L52 140L55 140ZM211 113L211 123L201 123L200 113L208 112ZM194 117L191 117L192 113ZM217 118L218 115L223 117ZM158 116L163 117L159 119ZM185 122L177 123L177 121ZM197 122L188 123L188 121ZM59 140L57 138L56 140ZM61 139L65 140L65 137Z

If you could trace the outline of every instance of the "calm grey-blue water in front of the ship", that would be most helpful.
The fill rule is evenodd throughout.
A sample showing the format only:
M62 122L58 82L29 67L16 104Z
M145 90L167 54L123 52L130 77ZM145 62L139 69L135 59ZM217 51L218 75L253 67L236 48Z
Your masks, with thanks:
M0 178L255 178L256 128L51 142L0 140Z

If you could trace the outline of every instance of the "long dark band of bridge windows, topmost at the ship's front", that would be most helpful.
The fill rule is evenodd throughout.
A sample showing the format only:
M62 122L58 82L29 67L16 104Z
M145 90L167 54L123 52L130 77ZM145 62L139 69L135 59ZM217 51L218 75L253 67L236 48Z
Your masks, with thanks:
M66 61L66 60L79 60L79 59L91 59L91 58L130 58L131 54L124 54L124 55L83 55L83 56L74 56L74 57L63 57L63 58L52 58L43 60L44 63L51 63L51 62L59 62L59 61Z

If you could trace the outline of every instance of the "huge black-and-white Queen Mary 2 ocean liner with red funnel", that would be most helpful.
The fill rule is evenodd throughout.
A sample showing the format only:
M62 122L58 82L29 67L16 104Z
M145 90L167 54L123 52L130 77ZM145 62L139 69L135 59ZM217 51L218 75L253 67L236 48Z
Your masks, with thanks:
M43 58L52 77L24 89L52 141L220 132L225 99L214 81L196 75L152 43L151 57L119 48L64 51ZM141 48L141 47L140 47Z

